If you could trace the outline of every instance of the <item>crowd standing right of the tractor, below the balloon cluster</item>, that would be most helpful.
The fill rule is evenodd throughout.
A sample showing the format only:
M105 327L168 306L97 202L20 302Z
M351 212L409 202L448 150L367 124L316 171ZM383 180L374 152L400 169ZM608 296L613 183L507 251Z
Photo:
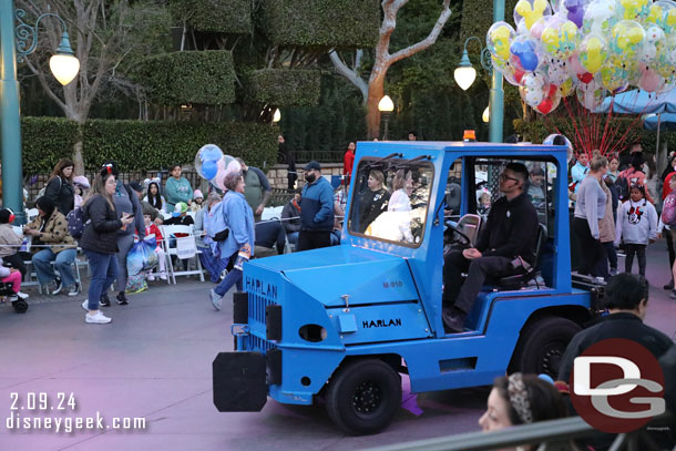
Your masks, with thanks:
M573 212L574 243L580 253L577 273L602 277L619 270L632 273L634 260L637 273L646 275L646 249L649 244L666 237L669 267L674 267L672 228L676 215L666 217L676 199L672 195L672 174L676 158L670 161L662 176L655 164L646 161L641 143L633 143L626 155L588 155L580 152L570 166L570 199ZM666 207L666 208L665 208ZM617 252L624 252L624 268L618 268ZM673 279L665 289L674 289ZM676 298L676 291L672 291Z

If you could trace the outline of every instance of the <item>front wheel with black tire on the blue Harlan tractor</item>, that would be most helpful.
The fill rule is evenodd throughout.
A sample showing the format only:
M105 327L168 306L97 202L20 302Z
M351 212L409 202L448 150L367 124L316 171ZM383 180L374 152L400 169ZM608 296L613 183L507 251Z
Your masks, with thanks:
M355 360L331 378L326 391L329 418L350 435L387 428L401 406L401 378L378 359Z

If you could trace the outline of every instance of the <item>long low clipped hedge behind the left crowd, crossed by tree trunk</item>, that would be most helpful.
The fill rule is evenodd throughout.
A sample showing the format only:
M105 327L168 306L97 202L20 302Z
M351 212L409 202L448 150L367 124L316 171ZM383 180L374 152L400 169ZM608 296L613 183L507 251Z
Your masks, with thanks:
M65 119L22 119L24 173L49 173L59 158L70 157L78 131L78 124ZM199 147L207 143L218 145L228 155L243 157L252 166L270 166L277 161L279 131L244 122L92 120L84 124L82 132L86 170L113 160L126 172L166 168L174 163L193 164Z

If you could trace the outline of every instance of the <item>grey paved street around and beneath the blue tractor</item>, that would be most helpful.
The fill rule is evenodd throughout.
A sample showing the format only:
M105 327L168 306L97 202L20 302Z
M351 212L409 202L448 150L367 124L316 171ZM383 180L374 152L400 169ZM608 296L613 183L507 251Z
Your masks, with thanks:
M647 322L674 336L676 301L662 289L668 274L665 253L664 242L649 249ZM212 403L211 365L217 352L232 349L232 307L228 297L224 310L214 311L209 287L185 278L176 286L156 281L148 291L130 296L129 306L105 309L113 318L107 326L84 324L84 296L31 296L25 315L0 306L0 451L338 451L478 430L486 388L421 394L421 417L402 409L386 432L363 438L338 432L321 406L269 401L260 413L218 413ZM19 414L74 421L99 412L111 428L8 431L12 393L19 396L14 420ZM37 401L30 412L29 393ZM40 393L48 397L44 412ZM65 410L59 410L59 393L65 393ZM70 393L74 410L65 406ZM140 417L146 424L113 430L114 417Z

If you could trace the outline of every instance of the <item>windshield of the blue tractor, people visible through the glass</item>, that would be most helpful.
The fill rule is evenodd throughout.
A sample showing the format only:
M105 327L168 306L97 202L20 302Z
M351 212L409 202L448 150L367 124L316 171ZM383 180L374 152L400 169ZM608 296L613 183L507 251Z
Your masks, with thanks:
M418 247L434 168L426 158L359 162L348 228L354 235Z

